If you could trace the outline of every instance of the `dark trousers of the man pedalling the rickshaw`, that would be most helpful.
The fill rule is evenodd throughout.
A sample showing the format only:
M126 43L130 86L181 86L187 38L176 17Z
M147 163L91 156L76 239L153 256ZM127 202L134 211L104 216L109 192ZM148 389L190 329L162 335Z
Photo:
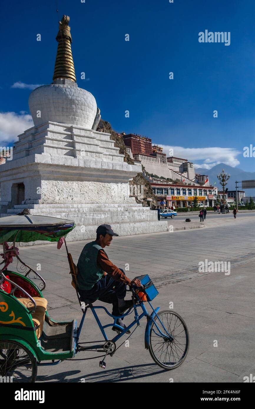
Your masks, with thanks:
M124 273L122 269L120 270ZM91 302L99 300L104 303L113 304L113 315L120 315L118 298L125 298L126 284L116 281L106 274L106 276L97 281L91 290L79 290L79 294L81 301L85 299L91 300Z

